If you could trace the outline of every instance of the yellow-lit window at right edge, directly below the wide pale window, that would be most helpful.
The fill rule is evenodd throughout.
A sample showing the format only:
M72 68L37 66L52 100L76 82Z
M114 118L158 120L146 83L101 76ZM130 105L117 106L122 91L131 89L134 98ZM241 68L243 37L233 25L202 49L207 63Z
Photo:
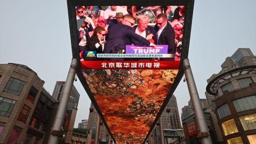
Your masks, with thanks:
M245 131L256 129L256 114L241 116L239 119Z

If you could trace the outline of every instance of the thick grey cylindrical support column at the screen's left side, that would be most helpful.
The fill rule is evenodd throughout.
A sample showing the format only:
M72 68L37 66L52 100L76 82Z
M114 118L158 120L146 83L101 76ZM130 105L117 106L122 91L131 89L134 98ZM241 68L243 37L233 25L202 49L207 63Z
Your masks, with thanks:
M59 143L59 137L62 136L61 134L61 127L64 122L65 113L70 97L70 93L73 88L73 83L76 75L76 68L77 68L77 60L72 59L71 65L68 71L68 76L63 87L63 92L61 95L61 99L59 102L59 107L55 116L55 121L52 126L52 132L48 141L48 144L57 144Z

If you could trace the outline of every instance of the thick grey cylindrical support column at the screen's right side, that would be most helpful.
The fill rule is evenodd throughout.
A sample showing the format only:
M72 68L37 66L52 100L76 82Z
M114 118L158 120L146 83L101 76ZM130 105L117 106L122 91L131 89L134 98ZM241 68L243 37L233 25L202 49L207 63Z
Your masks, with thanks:
M203 109L199 102L199 95L196 89L195 79L193 77L193 73L192 73L188 59L183 60L183 69L184 69L184 74L187 80L190 99L194 107L196 122L199 128L198 137L201 138L203 144L211 144L212 141L211 141L210 133L207 128Z

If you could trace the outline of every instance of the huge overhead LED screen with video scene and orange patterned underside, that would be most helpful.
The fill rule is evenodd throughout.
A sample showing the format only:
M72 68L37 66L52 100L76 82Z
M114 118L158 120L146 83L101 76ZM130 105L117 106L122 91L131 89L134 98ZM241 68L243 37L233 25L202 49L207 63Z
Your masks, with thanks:
M193 6L68 4L77 74L102 121L116 143L145 142L182 76Z

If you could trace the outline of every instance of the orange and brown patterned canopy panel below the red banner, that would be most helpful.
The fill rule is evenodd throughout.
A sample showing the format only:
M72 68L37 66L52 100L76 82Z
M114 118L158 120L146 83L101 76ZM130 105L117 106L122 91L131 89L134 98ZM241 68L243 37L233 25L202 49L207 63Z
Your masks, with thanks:
M117 143L143 143L178 70L84 70Z

